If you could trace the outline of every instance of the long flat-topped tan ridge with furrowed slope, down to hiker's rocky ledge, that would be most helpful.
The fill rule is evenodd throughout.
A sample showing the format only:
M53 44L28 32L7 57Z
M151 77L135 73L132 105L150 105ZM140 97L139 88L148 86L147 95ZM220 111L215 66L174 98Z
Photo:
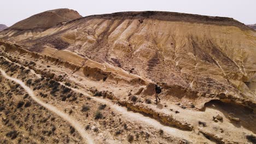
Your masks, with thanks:
M38 73L62 80L58 73L65 69L65 79L95 87L97 92L91 92L96 96L220 143L234 138L228 136L237 130L234 125L255 133L248 125L254 123L256 109L256 33L234 19L142 11L92 15L34 29L4 30L0 37L16 44L0 43L7 52L26 53L54 66L52 71L31 67ZM162 87L162 105L151 102L155 83ZM234 111L222 104L237 107L239 124L228 122ZM232 128L218 131L224 126L212 120L215 110Z

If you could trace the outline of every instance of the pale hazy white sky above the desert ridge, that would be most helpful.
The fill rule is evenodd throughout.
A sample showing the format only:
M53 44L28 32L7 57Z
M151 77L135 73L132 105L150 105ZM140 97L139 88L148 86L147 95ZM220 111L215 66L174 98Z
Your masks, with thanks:
M226 16L245 24L256 23L256 0L1 0L0 4L0 23L7 26L31 15L57 8L74 9L82 16L158 10Z

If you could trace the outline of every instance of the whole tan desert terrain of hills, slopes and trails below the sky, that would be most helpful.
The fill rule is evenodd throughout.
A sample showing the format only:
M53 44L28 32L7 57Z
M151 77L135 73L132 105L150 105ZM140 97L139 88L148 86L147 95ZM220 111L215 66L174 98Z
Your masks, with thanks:
M56 9L0 38L0 143L256 142L256 32L234 19Z

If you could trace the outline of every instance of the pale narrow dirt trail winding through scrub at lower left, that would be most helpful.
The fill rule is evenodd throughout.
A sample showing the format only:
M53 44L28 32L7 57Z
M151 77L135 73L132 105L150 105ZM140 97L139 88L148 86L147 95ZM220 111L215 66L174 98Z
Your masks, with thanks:
M72 117L68 116L66 113L58 110L56 107L50 105L50 104L46 104L44 103L42 100L38 99L36 97L36 95L34 95L34 92L30 89L30 87L26 86L24 82L22 82L21 80L15 79L13 77L8 76L1 68L0 68L1 74L6 78L9 79L11 81L14 81L16 83L18 83L21 87L23 87L27 93L31 96L31 98L36 101L39 105L42 105L43 107L45 107L46 109L56 113L56 115L60 116L61 118L65 119L65 121L69 122L77 131L78 133L83 137L84 141L86 143L94 143L93 140L89 137L89 135L86 133L86 131L84 130L84 127L82 124L79 124L78 121L76 121L75 119L73 119Z

